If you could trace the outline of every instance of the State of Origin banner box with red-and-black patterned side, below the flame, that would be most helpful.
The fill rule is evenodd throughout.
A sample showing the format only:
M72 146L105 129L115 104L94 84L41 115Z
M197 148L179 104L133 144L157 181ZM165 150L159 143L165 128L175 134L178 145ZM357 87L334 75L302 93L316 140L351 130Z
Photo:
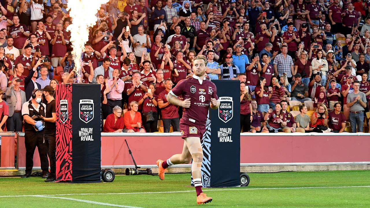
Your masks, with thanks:
M56 181L101 182L100 86L58 84L56 92Z

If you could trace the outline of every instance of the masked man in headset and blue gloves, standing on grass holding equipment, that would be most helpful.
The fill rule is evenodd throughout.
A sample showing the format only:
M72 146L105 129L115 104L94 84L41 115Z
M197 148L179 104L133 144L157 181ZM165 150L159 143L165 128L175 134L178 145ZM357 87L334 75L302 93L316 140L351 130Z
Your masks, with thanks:
M22 116L24 119L24 144L26 147L26 174L22 178L28 178L33 168L33 154L38 148L43 170L43 178L47 177L49 162L47 159L48 147L44 139L45 104L41 103L42 91L35 89L32 91L31 100L22 106Z

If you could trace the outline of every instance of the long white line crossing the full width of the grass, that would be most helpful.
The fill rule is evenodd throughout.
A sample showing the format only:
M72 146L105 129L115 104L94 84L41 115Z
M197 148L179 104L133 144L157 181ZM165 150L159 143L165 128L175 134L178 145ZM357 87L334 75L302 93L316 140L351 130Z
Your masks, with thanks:
M265 189L305 189L305 188L362 188L369 186L337 186L337 187L282 187L282 188L238 188L238 189L206 189L206 191L240 191L240 190L265 190ZM164 194L164 193L182 193L194 192L191 191L160 191L160 192L129 192L129 193L87 193L87 194L50 194L50 195L16 195L16 196L0 196L1 197L47 197L47 196L68 196L68 195L114 195L114 194Z

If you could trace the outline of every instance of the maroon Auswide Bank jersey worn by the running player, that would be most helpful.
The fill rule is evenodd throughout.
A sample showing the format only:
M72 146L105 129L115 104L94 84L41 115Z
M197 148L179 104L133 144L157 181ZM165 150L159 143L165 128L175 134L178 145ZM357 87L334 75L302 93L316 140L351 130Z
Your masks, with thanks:
M191 121L194 124L205 125L211 98L218 100L216 85L207 79L199 83L199 77L189 77L180 81L171 93L176 97L182 95L185 99L190 98L190 107L183 108L181 120Z

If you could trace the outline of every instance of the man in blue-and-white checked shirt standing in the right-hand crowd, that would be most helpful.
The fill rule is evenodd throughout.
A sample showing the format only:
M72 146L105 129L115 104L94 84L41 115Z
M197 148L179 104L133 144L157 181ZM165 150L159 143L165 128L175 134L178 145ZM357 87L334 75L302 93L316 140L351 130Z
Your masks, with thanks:
M286 45L282 46L281 53L276 55L274 59L274 72L283 76L283 73L286 74L288 78L292 78L292 73L294 70L294 63L292 57L288 54L288 47Z

